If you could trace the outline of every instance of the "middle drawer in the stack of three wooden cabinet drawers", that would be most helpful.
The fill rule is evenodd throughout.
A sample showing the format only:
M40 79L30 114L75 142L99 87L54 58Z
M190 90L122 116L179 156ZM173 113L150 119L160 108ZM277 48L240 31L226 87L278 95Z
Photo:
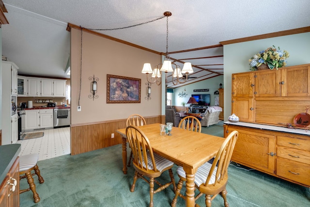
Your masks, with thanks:
M310 152L291 147L278 146L277 156L310 165Z

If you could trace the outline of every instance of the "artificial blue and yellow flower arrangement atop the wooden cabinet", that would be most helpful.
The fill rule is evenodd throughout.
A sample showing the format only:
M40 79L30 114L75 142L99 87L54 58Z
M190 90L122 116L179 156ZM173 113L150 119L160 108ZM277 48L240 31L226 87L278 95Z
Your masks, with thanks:
M278 70L279 67L283 67L286 65L286 59L290 57L290 54L286 50L280 50L273 45L270 48L267 48L263 51L260 51L256 55L254 55L251 59L248 60L250 63L250 70L257 70L259 66L262 64L266 64L271 70L276 68Z

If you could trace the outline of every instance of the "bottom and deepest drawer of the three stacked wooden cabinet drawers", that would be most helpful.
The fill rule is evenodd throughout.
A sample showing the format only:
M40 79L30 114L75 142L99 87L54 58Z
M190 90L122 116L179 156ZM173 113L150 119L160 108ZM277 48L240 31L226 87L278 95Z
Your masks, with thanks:
M277 175L310 186L310 165L289 159L277 159Z

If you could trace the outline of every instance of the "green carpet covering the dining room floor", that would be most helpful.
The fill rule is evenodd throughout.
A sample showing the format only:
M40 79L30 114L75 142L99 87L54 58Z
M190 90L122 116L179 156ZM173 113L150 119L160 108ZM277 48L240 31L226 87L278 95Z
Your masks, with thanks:
M213 125L203 130L223 133L223 127ZM219 135L217 135L219 136ZM128 157L130 150L127 150ZM130 192L133 167L128 174L122 172L122 145L107 147L76 156L64 155L38 162L45 182L40 184L34 176L41 201L33 202L32 192L20 194L20 207L143 207L149 204L149 186L139 179L135 192ZM238 169L229 166L227 199L230 207L309 207L310 191L288 181L266 175L256 170ZM176 172L177 166L173 170ZM164 172L158 180L169 180ZM175 173L176 182L179 181ZM27 188L27 180L20 181L20 189ZM184 191L184 189L183 189ZM172 186L154 195L155 207L170 207L174 193ZM198 199L204 205L204 196ZM178 207L184 207L181 198ZM212 207L224 207L223 199L217 196Z

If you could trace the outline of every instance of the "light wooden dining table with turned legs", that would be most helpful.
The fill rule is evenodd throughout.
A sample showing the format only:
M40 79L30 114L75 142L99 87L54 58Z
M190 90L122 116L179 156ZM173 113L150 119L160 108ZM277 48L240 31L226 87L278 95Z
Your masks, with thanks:
M149 139L153 151L182 166L186 172L186 207L195 206L195 173L203 163L212 159L224 138L172 127L171 136L160 135L159 123L140 126ZM127 174L126 128L116 130L123 136L123 172Z

